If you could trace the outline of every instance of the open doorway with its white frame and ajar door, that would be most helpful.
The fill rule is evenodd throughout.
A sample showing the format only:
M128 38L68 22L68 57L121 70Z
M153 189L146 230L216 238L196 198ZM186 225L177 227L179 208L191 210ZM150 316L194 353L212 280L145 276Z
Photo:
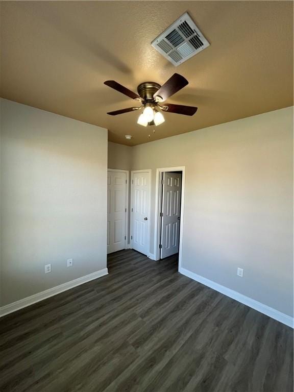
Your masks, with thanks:
M181 266L185 167L157 169L155 258L179 254Z

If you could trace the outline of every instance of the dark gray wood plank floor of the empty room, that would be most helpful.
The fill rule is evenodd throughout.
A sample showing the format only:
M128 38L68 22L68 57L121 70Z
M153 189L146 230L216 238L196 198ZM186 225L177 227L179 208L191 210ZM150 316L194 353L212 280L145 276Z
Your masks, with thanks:
M0 319L0 390L292 392L289 327L131 250Z

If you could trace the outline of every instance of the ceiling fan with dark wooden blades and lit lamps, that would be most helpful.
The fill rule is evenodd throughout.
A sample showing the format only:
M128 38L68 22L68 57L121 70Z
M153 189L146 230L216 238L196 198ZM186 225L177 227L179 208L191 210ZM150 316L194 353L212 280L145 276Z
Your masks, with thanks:
M108 112L107 114L116 116L117 114L143 109L143 112L140 114L137 122L139 125L144 127L148 125L160 125L165 121L162 113L159 110L167 113L177 113L184 114L186 116L192 116L197 112L198 109L194 106L167 103L160 105L160 103L167 100L171 95L174 95L188 84L188 81L179 74L174 74L171 76L162 86L155 82L143 82L137 87L138 94L115 82L114 80L107 80L104 82L104 84L141 103L141 106L139 107L115 110L113 112Z

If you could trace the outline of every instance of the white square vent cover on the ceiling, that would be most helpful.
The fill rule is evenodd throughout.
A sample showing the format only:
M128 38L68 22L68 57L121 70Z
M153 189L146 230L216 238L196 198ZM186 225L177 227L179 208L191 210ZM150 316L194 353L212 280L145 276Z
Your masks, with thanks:
M187 12L161 33L151 45L174 65L203 51L210 43Z

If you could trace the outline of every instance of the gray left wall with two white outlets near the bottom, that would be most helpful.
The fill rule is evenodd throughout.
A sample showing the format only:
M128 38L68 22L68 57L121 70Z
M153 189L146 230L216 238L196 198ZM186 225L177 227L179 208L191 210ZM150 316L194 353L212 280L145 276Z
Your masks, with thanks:
M7 100L1 125L5 305L106 268L107 130Z

